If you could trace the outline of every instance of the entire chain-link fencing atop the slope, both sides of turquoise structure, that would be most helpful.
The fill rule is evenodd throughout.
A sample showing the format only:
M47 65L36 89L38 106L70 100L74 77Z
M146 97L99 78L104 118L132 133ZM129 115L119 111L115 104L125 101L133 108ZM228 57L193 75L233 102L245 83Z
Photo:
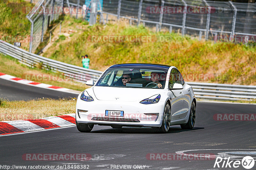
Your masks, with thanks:
M130 25L143 24L156 31L178 32L199 39L228 37L232 42L240 36L240 42L256 41L256 3L234 3L208 0L98 0L100 15L97 20L106 23L114 19L128 19ZM59 17L63 9L76 18L89 19L90 0L41 0L36 8L62 8L58 12L33 12L27 15L31 22L31 37L40 37L47 25ZM46 8L47 9L47 8ZM49 11L49 10L48 10ZM54 11L54 10L53 10ZM66 10L65 10L66 11ZM64 12L67 14L67 12ZM103 15L104 14L104 15ZM113 17L111 17L113 19ZM252 38L252 39L250 39ZM247 41L246 41L247 40ZM29 51L34 52L41 41L33 39Z

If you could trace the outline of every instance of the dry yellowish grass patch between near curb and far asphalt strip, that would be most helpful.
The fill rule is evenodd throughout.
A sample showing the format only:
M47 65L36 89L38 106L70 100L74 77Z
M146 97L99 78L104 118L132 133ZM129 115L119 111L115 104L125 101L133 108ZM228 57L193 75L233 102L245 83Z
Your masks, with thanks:
M6 101L0 99L0 121L37 119L75 113L76 99L37 99Z

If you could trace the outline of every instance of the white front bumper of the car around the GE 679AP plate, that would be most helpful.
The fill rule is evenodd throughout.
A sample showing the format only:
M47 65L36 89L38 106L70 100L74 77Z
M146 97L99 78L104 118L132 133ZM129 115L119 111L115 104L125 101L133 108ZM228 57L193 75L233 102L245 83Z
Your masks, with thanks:
M162 101L153 104L141 104L138 101L123 102L103 101L97 99L96 101L86 102L78 98L76 102L76 121L77 123L90 123L108 126L122 125L160 127L162 124L164 105L165 102ZM106 110L124 111L124 116L106 116Z

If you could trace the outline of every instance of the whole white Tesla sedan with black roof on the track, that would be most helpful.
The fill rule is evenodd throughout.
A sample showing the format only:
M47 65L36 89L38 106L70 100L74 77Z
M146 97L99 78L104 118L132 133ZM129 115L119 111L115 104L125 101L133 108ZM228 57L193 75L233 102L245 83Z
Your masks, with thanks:
M165 133L171 125L192 129L196 120L193 89L173 66L115 64L79 94L76 127L90 132L94 124L113 128L152 127Z

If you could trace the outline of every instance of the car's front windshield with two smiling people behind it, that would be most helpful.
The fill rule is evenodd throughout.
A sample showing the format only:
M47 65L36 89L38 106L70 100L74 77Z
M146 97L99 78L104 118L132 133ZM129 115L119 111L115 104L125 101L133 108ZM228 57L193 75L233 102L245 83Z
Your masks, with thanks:
M167 67L109 68L96 86L155 89L161 84L160 89L164 89L167 71Z

